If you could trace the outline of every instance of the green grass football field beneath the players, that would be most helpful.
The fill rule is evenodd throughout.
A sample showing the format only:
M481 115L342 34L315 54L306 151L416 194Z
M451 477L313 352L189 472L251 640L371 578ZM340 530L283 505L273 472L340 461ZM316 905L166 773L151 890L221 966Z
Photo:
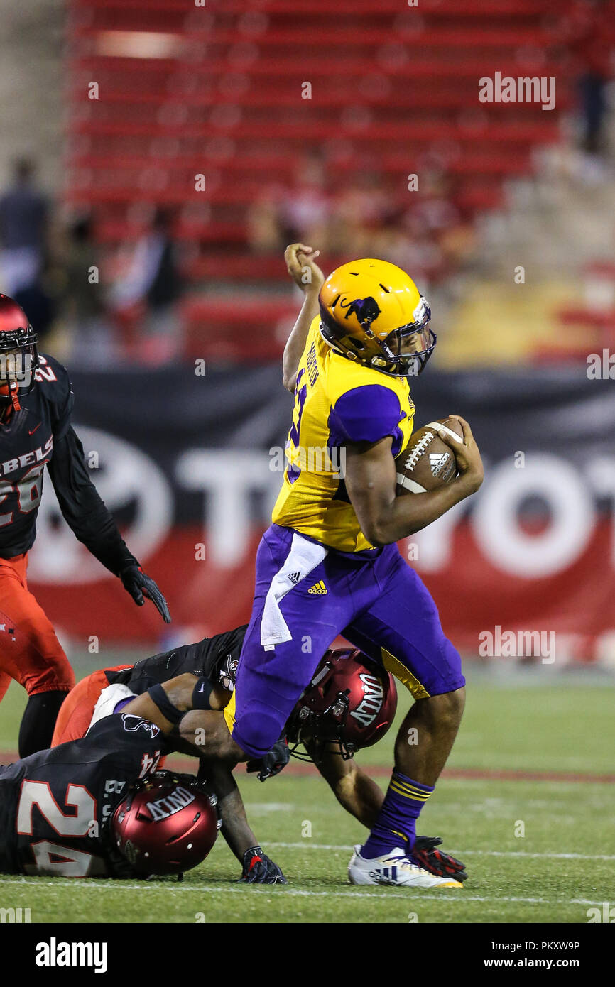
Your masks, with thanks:
M500 679L470 668L468 685L450 773L419 826L466 863L463 889L350 886L351 846L365 831L320 777L286 771L263 784L240 770L252 827L286 887L235 883L239 866L219 838L182 883L6 876L0 906L30 908L32 921L44 923L586 923L590 906L615 903L615 775L608 775L615 681L543 669ZM0 750L15 750L23 705L12 685L2 703ZM398 716L407 706L400 695ZM391 730L360 763L388 771L393 737ZM378 781L386 786L386 775ZM515 836L521 828L524 836Z

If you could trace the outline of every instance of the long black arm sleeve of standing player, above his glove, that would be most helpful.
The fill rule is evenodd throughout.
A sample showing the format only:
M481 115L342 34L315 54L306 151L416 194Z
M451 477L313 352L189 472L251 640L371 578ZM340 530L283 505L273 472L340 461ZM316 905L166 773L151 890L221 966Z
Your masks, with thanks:
M67 427L62 423L59 437L54 434L53 455L47 469L62 516L88 551L114 575L126 566L138 566L90 480L83 446L70 421Z

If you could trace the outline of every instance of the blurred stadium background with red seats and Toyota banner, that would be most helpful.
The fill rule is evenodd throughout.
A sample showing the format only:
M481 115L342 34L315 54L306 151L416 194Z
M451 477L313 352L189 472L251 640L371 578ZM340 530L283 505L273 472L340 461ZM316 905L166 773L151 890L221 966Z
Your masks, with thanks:
M431 302L417 421L464 415L488 463L404 546L448 635L490 661L485 632L555 633L554 671L615 666L613 3L1 7L2 289L68 365L95 482L174 617L161 637L47 484L30 580L69 655L247 620L300 238L327 270L404 266ZM496 72L554 78L555 107L481 103ZM542 664L532 640L493 661Z

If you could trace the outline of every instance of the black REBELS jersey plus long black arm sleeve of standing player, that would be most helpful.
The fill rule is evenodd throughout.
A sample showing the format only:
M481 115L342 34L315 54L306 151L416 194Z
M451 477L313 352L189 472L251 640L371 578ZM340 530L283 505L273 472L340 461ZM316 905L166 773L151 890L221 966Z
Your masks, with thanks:
M117 575L137 564L94 487L72 425L74 396L68 372L52 356L39 356L37 384L20 399L21 410L0 422L0 558L32 548L47 467L60 510L76 537Z

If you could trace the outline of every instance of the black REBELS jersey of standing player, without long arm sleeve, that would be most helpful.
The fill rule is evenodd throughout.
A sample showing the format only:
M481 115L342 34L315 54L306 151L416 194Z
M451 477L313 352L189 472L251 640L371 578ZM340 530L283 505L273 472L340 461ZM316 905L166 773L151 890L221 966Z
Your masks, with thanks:
M9 559L31 548L42 493L42 471L53 443L70 427L73 392L66 369L40 356L37 386L22 408L0 424L0 556Z

